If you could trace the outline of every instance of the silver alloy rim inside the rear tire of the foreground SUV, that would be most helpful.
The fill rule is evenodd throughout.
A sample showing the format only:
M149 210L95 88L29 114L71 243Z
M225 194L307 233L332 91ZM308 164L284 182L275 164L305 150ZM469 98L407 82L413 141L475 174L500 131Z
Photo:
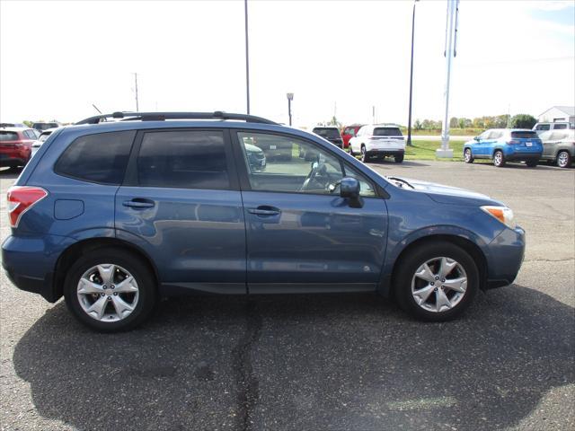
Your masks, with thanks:
M103 263L84 272L76 294L84 312L96 321L121 321L136 309L139 288L128 270Z

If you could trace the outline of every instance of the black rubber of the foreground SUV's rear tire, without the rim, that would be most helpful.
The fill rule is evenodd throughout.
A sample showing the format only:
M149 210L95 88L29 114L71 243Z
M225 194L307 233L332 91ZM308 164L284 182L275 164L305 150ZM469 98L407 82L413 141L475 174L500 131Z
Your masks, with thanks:
M125 268L137 282L138 299L135 308L127 317L119 321L99 321L94 319L87 312L84 312L78 299L77 286L80 278L90 268L102 264L114 264ZM157 303L157 288L153 272L137 256L123 249L102 248L84 254L67 271L64 297L68 309L78 321L81 321L87 327L101 332L118 332L131 330L146 321L154 311Z

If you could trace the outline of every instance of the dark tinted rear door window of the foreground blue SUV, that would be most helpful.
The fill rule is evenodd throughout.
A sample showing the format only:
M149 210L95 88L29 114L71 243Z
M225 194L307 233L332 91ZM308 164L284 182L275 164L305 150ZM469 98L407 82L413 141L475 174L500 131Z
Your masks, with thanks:
M137 155L137 179L147 187L230 189L223 132L146 133Z

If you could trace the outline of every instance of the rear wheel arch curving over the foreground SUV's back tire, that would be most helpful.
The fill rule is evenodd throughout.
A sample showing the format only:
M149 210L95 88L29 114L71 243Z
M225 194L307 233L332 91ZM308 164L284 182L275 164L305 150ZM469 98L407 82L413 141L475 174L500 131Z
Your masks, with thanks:
M158 271L155 267L154 261L146 254L145 251L142 251L136 245L130 242L119 240L118 238L89 238L70 245L60 254L59 258L57 259L56 267L54 268L52 285L55 295L54 297L56 299L64 295L64 281L66 278L66 273L68 269L74 265L74 262L85 253L102 249L104 247L123 249L136 255L138 258L142 259L148 268L152 270L152 273L155 277L155 285L159 283L160 278L158 276Z

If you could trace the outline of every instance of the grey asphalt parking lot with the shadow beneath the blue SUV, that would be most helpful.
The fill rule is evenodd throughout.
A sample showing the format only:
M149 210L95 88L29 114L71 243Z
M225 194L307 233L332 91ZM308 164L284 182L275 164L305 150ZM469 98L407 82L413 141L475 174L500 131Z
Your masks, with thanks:
M206 296L102 335L3 272L1 429L574 429L575 169L372 166L513 208L527 233L516 283L448 323L376 295ZM3 239L14 179L0 172Z

